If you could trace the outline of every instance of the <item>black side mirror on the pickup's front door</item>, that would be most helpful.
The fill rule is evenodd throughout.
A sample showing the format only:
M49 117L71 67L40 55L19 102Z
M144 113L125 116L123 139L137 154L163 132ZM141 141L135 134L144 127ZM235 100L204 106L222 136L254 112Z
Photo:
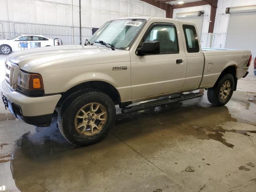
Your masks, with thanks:
M159 54L160 44L159 41L145 41L142 46L137 49L137 55L146 54Z

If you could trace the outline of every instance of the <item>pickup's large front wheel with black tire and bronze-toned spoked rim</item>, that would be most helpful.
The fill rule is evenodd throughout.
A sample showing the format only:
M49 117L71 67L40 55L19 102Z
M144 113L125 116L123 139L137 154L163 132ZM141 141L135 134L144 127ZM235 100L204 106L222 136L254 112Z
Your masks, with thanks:
M94 110L99 104L98 110L88 116L91 109L88 107L90 107L92 103ZM82 112L81 109L86 113ZM88 113L86 110L89 110ZM100 116L100 114L102 114L100 110L103 110L105 114ZM92 117L93 114L94 117ZM115 104L108 95L98 90L80 90L69 96L63 102L58 113L58 126L60 132L68 142L75 146L87 146L99 142L107 136L114 126L115 116ZM88 121L90 124L87 124ZM84 126L78 128L80 124ZM90 128L92 125L96 125L98 128Z

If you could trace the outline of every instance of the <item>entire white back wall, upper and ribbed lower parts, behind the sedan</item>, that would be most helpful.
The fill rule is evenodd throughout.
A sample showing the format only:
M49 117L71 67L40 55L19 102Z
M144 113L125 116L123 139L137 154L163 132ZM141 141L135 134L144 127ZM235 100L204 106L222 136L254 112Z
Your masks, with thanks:
M79 0L0 0L0 13L0 39L33 33L62 38L64 44L79 43ZM91 28L108 20L165 15L140 0L81 0L82 41L92 35Z

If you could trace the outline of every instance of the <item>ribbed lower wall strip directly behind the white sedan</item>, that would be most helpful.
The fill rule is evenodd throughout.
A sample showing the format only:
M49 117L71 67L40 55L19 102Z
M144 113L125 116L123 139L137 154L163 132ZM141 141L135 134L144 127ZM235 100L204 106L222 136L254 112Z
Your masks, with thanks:
M10 30L9 30L10 28ZM92 36L92 28L82 27L82 43ZM48 38L60 38L64 45L79 44L79 27L48 25L24 22L0 21L0 39L8 39L19 34L40 34Z

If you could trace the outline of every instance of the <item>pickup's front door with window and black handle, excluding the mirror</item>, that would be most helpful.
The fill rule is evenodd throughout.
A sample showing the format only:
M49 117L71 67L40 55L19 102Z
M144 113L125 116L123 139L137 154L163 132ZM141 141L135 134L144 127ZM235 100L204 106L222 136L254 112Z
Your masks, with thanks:
M182 45L179 25L154 23L138 48L145 41L159 41L160 53L144 56L131 53L132 100L147 100L182 90L187 62L178 46Z

